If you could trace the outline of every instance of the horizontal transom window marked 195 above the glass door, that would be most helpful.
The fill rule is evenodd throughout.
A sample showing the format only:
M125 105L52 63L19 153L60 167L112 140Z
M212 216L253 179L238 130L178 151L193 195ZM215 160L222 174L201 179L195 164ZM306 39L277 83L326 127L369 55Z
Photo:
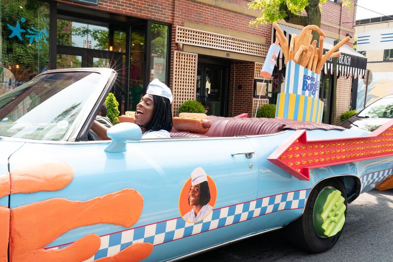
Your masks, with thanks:
M57 20L57 44L97 50L109 49L109 29L68 20Z

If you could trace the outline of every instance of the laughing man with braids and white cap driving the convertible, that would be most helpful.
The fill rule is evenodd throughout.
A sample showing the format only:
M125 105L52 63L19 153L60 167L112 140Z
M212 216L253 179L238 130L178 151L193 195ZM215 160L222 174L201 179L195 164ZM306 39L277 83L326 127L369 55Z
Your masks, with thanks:
M134 123L142 129L142 139L168 138L172 129L172 92L169 87L154 79L140 99Z

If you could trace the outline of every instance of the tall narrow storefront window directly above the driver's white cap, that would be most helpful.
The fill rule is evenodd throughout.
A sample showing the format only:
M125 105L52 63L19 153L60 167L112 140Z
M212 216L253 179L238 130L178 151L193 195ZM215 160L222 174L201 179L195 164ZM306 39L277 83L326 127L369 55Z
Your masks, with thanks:
M151 24L150 81L167 83L168 26Z

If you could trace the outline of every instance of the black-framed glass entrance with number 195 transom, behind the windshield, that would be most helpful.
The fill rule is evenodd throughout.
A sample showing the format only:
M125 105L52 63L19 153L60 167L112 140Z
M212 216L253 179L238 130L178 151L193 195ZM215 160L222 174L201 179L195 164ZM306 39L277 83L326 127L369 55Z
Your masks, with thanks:
M94 24L96 23L96 24ZM110 23L85 23L71 17L57 19L56 68L112 68L117 79L112 89L119 102L120 114L126 111L127 30Z

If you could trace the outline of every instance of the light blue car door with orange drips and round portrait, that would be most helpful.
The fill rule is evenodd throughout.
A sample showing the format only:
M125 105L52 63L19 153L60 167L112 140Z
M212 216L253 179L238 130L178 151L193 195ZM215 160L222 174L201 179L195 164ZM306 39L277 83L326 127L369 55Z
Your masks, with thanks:
M28 261L32 252L45 259L45 248L63 249L53 261L136 249L161 261L263 230L251 220L258 167L246 137L140 141L124 152L106 152L108 145L26 143L10 157L11 177L26 189L10 199L11 260ZM186 222L196 170L207 177L213 210Z

